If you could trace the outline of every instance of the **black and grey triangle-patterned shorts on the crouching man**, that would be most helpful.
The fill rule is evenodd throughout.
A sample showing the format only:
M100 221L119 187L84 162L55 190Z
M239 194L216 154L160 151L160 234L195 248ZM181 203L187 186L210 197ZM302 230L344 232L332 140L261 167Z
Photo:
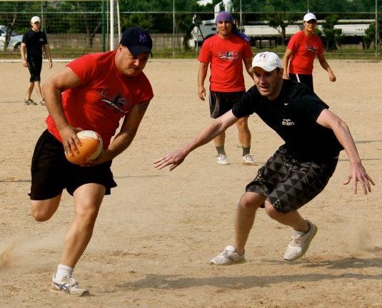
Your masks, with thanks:
M246 191L265 195L280 212L291 212L321 193L337 162L338 158L324 163L298 161L281 146L258 170L256 178L246 186Z

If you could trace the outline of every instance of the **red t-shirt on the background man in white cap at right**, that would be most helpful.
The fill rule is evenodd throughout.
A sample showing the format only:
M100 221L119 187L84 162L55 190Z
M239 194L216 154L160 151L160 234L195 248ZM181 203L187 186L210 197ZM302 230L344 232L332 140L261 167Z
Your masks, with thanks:
M313 73L313 61L316 55L323 53L323 44L317 34L307 36L299 31L291 37L288 43L292 56L289 62L289 73L301 73L311 75Z

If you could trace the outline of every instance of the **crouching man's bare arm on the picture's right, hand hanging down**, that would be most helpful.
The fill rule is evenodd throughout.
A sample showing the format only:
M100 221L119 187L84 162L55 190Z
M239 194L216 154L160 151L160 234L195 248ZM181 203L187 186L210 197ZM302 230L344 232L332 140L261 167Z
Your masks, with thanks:
M320 116L317 118L317 123L333 130L333 133L336 135L336 138L348 155L350 171L343 184L346 185L350 183L353 178L353 192L357 193L358 182L361 182L363 193L367 195L368 192L371 192L370 184L374 185L374 182L366 173L365 168L363 168L361 158L359 158L358 150L356 148L356 144L354 143L353 137L351 136L350 130L348 129L348 125L346 125L341 118L338 118L336 114L332 113L328 109L324 109L321 112Z

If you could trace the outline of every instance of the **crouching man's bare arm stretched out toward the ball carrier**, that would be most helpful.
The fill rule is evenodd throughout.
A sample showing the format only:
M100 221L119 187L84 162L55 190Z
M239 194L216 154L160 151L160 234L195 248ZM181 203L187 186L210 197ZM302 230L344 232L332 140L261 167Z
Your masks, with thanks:
M208 125L206 125L195 137L190 140L189 143L184 145L182 148L179 148L179 150L175 150L174 152L165 155L163 158L156 160L156 162L154 162L155 168L162 169L170 165L170 171L173 170L183 163L184 158L186 158L191 151L210 142L217 135L223 133L223 131L229 126L233 125L233 123L236 123L237 120L238 118L233 116L232 111L227 111L223 114L223 116L220 116L212 120L211 123L208 123Z

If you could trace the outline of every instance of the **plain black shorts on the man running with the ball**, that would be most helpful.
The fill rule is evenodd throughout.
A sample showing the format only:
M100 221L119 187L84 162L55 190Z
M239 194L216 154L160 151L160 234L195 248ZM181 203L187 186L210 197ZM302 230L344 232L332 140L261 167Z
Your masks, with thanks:
M31 163L31 200L46 200L56 197L66 188L70 195L81 185L97 183L110 195L116 187L111 173L111 161L93 167L81 167L69 163L64 146L48 130L40 136L34 148Z

